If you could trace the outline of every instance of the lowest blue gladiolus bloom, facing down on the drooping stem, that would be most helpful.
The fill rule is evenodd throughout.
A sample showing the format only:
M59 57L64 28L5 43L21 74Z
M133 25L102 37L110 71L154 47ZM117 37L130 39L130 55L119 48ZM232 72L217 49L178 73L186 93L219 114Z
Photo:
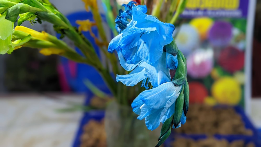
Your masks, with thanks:
M173 82L167 82L156 88L145 90L134 99L133 111L139 115L139 120L145 118L149 130L155 130L160 122L164 123L174 114L175 101L179 97L181 88L182 86L175 86ZM186 116L182 113L179 126L185 122Z

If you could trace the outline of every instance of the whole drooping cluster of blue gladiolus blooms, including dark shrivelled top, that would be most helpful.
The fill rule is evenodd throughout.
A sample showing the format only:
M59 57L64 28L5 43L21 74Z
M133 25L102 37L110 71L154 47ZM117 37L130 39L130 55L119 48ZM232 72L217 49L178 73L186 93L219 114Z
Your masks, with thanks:
M182 86L175 85L170 77L170 69L178 66L178 49L172 38L175 27L145 14L145 5L135 6L130 2L124 6L125 11L115 21L121 33L111 40L108 51L116 50L121 66L131 71L127 75L117 75L116 81L127 86L142 81L146 89L149 83L153 86L139 94L132 108L139 115L138 119L145 118L147 128L154 130L174 114L175 101L182 91ZM183 112L180 124L185 121Z

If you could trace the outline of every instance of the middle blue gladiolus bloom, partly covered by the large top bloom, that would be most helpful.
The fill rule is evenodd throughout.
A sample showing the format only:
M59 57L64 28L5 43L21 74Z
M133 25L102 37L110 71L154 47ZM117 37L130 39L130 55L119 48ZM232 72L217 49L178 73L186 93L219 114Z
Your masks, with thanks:
M142 80L151 82L151 85L154 87L157 87L165 82L169 82L171 81L169 67L177 65L177 58L169 57L170 54L167 52L163 52L161 58L153 64L148 64L145 61L140 61L137 64L128 64L124 58L122 58L121 51L119 51L119 54L121 65L126 67L126 70L131 69L132 72L127 75L117 75L116 81L121 81L127 86L134 86ZM174 61L172 60L166 62L167 59L174 59ZM145 81L143 83L145 83ZM148 84L142 85L146 88Z

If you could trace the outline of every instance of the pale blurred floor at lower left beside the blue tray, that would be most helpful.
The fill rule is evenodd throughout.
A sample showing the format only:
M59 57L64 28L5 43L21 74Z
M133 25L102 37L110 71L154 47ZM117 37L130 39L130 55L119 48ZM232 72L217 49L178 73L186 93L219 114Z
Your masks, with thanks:
M55 95L52 95L53 97ZM81 104L83 95L0 96L1 147L69 147L81 112L59 113L70 102Z

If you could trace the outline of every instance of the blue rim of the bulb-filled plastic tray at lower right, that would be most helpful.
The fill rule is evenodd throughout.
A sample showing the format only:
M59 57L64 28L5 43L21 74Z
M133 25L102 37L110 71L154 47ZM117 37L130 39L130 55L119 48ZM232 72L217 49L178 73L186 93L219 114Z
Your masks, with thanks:
M221 106L223 107L223 106ZM234 107L236 113L238 113L242 121L245 124L246 129L250 129L253 132L252 136L248 135L221 135L221 134L215 134L213 137L216 139L225 139L228 142L233 142L235 140L244 140L245 145L252 142L256 145L256 147L260 147L261 145L259 144L258 141L258 131L254 128L253 124L251 121L248 119L246 114L244 113L244 110L240 106L235 106ZM179 134L179 133L171 133L170 137L165 141L165 146L166 147L171 147L171 142L173 142L175 137L184 137L188 139L193 139L193 140L199 140L199 139L206 139L207 135L206 134Z

